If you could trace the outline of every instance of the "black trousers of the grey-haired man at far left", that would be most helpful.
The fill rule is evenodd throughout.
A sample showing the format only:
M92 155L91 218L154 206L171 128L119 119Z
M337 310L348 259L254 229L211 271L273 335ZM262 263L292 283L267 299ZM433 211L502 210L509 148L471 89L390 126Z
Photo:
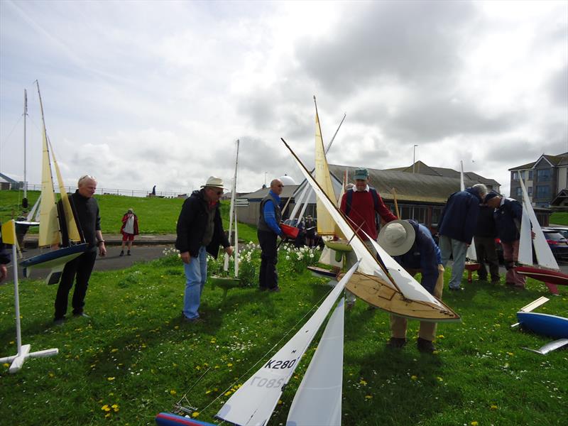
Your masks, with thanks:
M93 271L94 261L97 259L97 251L87 251L81 256L67 262L58 287L58 294L55 296L55 320L59 320L67 313L67 300L69 292L75 279L75 290L73 291L73 314L79 315L83 312L84 297L87 295L89 278Z

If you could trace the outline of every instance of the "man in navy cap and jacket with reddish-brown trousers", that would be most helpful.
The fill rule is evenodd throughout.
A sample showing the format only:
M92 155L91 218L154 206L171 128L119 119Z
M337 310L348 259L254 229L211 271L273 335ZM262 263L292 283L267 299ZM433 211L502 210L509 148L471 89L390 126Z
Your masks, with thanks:
M497 234L503 246L503 259L507 274L506 285L516 288L525 288L525 275L515 270L515 263L519 258L520 222L523 219L523 205L512 198L503 197L491 191L485 197L488 207L495 209L493 217L497 227Z

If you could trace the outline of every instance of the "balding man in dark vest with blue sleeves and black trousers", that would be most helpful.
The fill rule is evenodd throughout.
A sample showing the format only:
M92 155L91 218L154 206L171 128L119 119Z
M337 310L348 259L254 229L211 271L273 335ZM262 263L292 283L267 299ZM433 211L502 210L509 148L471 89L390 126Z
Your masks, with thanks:
M261 201L258 214L256 235L258 236L258 243L261 244L261 271L258 274L258 290L261 291L280 291L278 273L276 272L276 263L278 263L276 238L278 235L284 236L282 229L280 229L282 220L280 194L282 194L283 187L282 180L272 180L271 189Z

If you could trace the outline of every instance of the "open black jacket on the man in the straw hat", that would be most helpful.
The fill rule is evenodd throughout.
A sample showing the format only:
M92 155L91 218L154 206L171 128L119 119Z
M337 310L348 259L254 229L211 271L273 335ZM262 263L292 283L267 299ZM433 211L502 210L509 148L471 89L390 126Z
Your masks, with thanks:
M217 258L220 245L224 248L231 246L223 230L219 206L220 203L218 202L214 207L213 239L207 246L207 253L214 258ZM204 190L193 191L192 195L183 202L182 211L180 217L178 217L178 238L175 240L175 248L180 253L189 251L192 257L197 257L205 233L205 226L207 226L207 201L204 197Z

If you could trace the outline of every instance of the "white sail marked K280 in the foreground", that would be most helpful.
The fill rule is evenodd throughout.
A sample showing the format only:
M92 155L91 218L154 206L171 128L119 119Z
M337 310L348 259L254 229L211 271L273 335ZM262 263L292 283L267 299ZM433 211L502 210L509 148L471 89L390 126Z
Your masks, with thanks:
M226 401L215 417L239 426L266 425L284 386L357 266L359 262L349 269L310 320Z

